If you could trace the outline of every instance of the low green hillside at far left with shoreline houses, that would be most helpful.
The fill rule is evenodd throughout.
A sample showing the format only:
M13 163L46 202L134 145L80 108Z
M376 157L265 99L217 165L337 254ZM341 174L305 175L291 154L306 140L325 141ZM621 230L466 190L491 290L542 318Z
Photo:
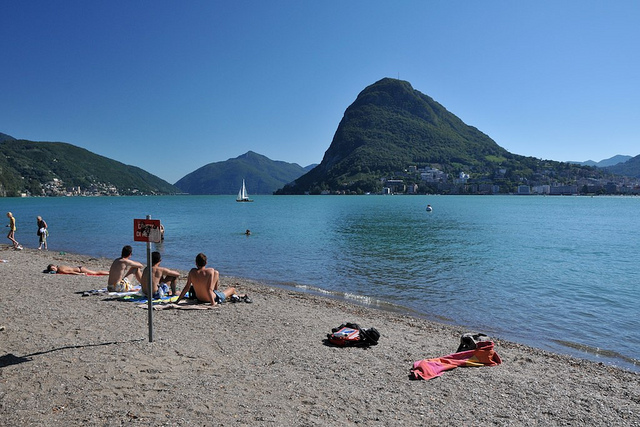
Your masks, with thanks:
M73 189L73 190L72 190ZM179 190L144 170L64 142L11 137L0 143L0 195L171 194Z

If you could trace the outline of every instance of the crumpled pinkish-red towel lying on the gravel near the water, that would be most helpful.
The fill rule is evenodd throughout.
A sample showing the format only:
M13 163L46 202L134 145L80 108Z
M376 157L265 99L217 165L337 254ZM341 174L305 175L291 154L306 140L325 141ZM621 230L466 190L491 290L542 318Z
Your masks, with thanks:
M493 341L481 341L474 350L461 351L435 359L424 359L414 362L411 369L412 379L430 380L439 377L445 371L459 366L496 366L502 363L500 356L493 349Z

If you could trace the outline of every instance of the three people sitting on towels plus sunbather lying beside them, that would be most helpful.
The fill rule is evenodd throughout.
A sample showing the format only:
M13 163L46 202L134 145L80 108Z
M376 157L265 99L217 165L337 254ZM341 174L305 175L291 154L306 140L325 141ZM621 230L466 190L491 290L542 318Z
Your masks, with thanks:
M47 273L73 274L73 275L104 275L109 276L107 280L107 291L109 292L130 292L136 289L135 281L139 282L141 291L148 295L149 274L151 274L152 298L159 299L165 296L177 294L177 284L180 272L160 265L162 256L160 252L151 253L151 269L142 263L131 259L133 248L126 245L122 248L119 258L112 263L109 271L90 270L84 266L54 265L47 266ZM196 255L196 267L192 268L187 275L187 283L182 288L175 303L179 303L191 292L198 301L217 305L227 300L232 302L244 301L252 302L249 295L239 296L234 287L220 290L220 273L214 268L207 267L207 256L203 253Z

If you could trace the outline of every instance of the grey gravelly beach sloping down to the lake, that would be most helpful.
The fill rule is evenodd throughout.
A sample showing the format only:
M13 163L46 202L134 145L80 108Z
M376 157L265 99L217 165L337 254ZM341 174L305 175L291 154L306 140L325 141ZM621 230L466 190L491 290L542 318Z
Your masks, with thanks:
M224 271L222 286L253 304L154 311L150 343L146 309L82 296L106 277L42 273L49 263L108 269L111 260L2 249L0 425L640 426L636 373L494 340L499 366L410 380L414 361L482 331ZM379 345L324 345L344 322L375 327Z

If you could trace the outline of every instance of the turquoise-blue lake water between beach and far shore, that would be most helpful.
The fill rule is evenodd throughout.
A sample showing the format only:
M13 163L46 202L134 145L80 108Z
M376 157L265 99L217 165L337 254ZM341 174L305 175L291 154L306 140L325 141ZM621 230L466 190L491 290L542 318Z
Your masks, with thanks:
M35 218L42 215L52 251L115 258L131 244L134 258L146 263L146 244L133 242L133 219L151 215L166 228L156 249L167 267L188 269L202 251L222 275L406 310L640 370L638 197L253 199L9 198L1 203L16 216L16 236L26 247L37 247ZM427 203L433 212L425 211Z

